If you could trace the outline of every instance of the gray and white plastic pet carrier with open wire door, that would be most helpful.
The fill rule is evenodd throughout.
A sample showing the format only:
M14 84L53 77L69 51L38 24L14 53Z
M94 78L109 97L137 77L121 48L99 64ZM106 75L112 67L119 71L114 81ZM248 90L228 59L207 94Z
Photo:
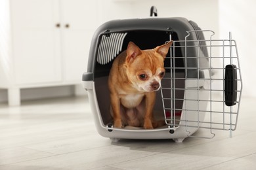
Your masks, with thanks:
M204 35L208 35L207 39ZM236 129L242 79L231 39L214 40L186 18L113 20L101 25L91 42L83 87L88 90L96 129L110 139L173 139L182 142L198 128ZM156 97L154 117L166 126L156 129L112 126L108 74L114 59L129 41L151 49L173 40L165 58L165 77ZM217 65L215 63L218 63ZM215 65L214 65L215 64ZM221 96L221 97L220 97Z

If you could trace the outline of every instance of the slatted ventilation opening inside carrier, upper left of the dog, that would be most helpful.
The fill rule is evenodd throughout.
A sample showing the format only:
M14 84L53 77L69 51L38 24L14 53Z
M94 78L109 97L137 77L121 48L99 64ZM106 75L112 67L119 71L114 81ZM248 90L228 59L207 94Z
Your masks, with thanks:
M98 63L105 65L116 58L121 52L123 39L127 33L111 33L110 35L102 35L100 46L98 47Z

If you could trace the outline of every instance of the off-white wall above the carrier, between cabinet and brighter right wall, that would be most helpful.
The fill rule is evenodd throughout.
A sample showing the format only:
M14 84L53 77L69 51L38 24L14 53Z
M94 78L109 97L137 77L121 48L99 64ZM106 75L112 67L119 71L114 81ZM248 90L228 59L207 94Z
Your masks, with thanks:
M101 22L122 18L148 18L150 7L158 9L158 17L184 17L192 20L202 29L212 29L219 33L219 2L212 0L112 0L102 1ZM105 4L104 4L105 3Z

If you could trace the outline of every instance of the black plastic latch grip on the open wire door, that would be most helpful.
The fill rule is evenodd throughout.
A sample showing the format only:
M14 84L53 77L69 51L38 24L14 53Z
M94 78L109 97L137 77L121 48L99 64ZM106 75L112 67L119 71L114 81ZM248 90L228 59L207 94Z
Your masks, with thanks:
M230 64L225 67L225 104L227 106L236 105L237 95L237 73L236 65Z

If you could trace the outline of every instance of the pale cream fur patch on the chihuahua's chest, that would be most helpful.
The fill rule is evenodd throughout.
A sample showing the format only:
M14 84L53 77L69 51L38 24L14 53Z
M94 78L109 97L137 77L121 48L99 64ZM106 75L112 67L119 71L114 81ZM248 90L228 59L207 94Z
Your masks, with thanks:
M126 108L135 108L137 107L142 99L144 98L144 93L140 94L125 94L121 96L121 104Z

